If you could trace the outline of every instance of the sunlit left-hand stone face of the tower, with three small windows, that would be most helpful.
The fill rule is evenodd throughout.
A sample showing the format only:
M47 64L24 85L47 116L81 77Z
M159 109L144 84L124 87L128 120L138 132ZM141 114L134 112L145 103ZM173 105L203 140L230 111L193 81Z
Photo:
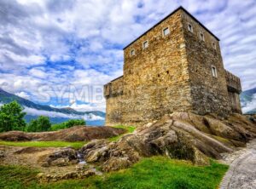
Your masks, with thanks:
M166 27L170 34L163 36ZM177 11L125 49L125 123L148 123L166 113L191 109L182 31ZM146 40L148 48L143 49Z

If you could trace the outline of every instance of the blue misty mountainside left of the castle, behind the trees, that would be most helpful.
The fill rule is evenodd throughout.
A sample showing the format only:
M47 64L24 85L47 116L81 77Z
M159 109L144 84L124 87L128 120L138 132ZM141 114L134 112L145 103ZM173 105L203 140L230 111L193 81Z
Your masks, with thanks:
M61 123L73 118L84 118L88 124L102 125L105 119L105 113L101 111L78 112L72 108L54 108L51 106L38 105L31 100L26 100L15 94L10 94L3 89L0 89L0 103L7 104L16 100L25 108L26 121L40 115L50 117L52 123ZM99 121L98 123L96 121ZM91 122L91 123L90 123Z

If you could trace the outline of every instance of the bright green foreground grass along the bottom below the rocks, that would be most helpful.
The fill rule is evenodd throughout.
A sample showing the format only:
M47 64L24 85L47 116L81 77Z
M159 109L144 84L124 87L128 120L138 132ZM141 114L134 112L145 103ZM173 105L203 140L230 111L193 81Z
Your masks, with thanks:
M216 189L228 169L211 162L198 167L189 162L164 157L144 158L130 169L92 176L84 180L65 180L49 184L35 181L36 170L0 166L0 187L3 188L88 188L88 189Z

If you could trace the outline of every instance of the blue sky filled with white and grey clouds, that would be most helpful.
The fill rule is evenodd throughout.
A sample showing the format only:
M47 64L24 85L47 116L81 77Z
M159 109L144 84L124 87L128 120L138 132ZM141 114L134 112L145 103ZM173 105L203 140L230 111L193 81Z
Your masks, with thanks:
M220 38L242 88L255 88L255 0L0 0L0 88L104 110L102 84L122 75L122 49L180 5Z

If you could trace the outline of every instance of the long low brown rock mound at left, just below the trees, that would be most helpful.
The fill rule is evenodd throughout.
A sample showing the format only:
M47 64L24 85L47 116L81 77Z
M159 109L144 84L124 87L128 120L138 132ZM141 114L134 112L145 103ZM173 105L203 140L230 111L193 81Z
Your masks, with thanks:
M0 140L9 141L85 141L93 139L107 139L113 136L124 134L125 129L113 127L84 127L76 126L69 129L61 129L53 132L25 133L21 131L9 131L0 134Z

